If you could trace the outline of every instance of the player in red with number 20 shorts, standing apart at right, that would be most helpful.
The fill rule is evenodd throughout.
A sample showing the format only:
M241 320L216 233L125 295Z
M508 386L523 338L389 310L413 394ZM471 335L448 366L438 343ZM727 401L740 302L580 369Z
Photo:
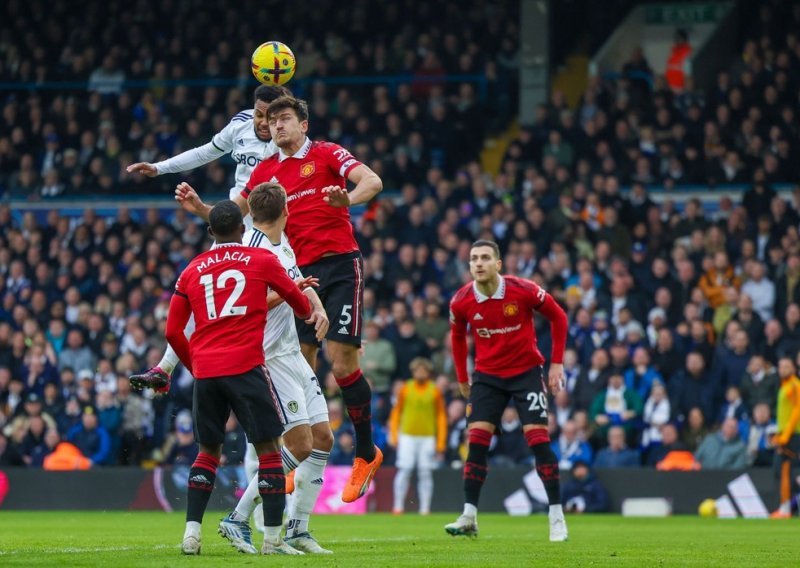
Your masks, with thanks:
M469 270L473 282L450 302L453 359L459 388L469 399L469 452L464 464L464 513L445 525L451 535L477 536L478 499L486 481L486 454L503 410L510 400L519 412L522 430L536 459L536 472L550 501L550 540L567 540L561 509L558 460L547 433L547 389L536 346L533 314L550 320L553 351L550 391L562 388L562 358L567 340L567 316L556 301L528 280L500 275L500 249L492 241L472 245ZM475 371L467 374L467 333L475 343Z

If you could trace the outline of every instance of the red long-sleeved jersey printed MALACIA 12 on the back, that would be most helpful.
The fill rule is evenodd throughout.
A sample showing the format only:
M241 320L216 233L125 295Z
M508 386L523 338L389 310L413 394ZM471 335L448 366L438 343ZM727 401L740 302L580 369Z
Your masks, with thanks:
M220 244L195 257L184 269L175 294L188 300L194 314L195 331L189 339L189 351L190 370L195 378L239 375L264 364L270 287L300 317L308 317L308 298L286 274L278 257L268 250L238 243ZM181 331L185 324L170 322L170 318L180 320L183 315L188 319L188 313L174 314L174 309L171 304L168 337L176 325Z

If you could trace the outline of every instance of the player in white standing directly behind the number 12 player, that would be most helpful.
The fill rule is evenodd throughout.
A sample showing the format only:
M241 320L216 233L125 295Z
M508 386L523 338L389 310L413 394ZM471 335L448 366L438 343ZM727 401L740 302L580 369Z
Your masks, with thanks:
M294 251L283 232L288 215L283 187L277 183L261 184L250 194L248 202L254 226L245 233L242 243L272 252L293 280L308 282L300 273ZM306 288L305 293L312 302L321 305L313 288ZM317 377L300 351L291 308L273 292L270 292L268 305L264 354L284 421L281 457L287 473L296 468L285 541L306 553L330 554L308 532L309 515L322 490L325 465L333 447L328 408ZM318 337L327 333L327 324L317 326ZM250 444L247 461L255 465L253 472L257 470L258 458ZM255 553L248 520L259 509L256 507L258 476L249 475L248 478L247 490L236 509L220 522L219 532L238 550ZM288 487L287 492L290 492Z

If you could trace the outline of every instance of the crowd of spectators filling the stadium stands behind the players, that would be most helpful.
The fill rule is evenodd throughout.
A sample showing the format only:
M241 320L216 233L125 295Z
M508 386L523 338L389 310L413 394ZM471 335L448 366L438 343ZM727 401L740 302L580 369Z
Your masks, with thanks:
M9 44L9 34L31 29L21 14L40 4L11 5L22 25L0 42L13 47L22 44ZM178 9L175 3L92 4L121 16L88 47L79 26L50 25L66 3L52 5L47 12L30 8L31 21L41 15L37 29L50 45L66 47L51 54L31 36L24 53L0 50L0 77L225 76L243 55L240 46L218 41L226 26L235 22L236 37L253 39L260 35L252 30L268 22L268 10L254 6L252 23L240 30L238 20L203 5L186 17L228 23L219 31L202 28L209 35L201 42L191 33L173 36L175 18L159 17L160 9ZM507 20L488 17L478 36L472 19L454 19L452 34L431 29L412 39L394 5L377 12L367 2L358 6L346 14L353 34L328 34L322 50L302 41L305 21L297 28L288 43L297 46L298 73L486 71L492 84L483 101L470 83L411 82L393 91L315 84L305 93L311 135L347 145L398 190L396 198L373 203L356 227L368 322L362 366L374 385L378 443L386 444L393 393L409 377L409 362L423 356L433 362L448 405L444 462L463 460L465 403L455 388L447 302L469 279L469 244L490 238L501 246L505 273L543 285L569 316L567 388L550 407L563 468L655 467L674 458L673 450L694 453L706 468L771 463L776 364L800 351L800 188L788 199L774 188L799 177L791 159L800 150L798 3L759 9L741 57L708 92L691 82L672 92L660 77L652 87L636 78L596 80L577 109L553 93L493 176L475 157L487 117L508 104L499 98L516 61ZM81 17L91 30L99 13ZM303 17L316 29L326 17L345 15L321 10ZM366 37L372 18L388 30L385 37ZM64 37L69 29L77 30L74 37ZM487 42L495 51L482 53ZM199 44L207 52L186 48ZM50 76L45 59L59 62L60 75ZM649 69L640 54L625 67ZM230 186L230 164L154 180L129 177L123 166L206 142L249 105L249 89L154 86L8 97L0 119L6 195L157 193L177 179L201 194L219 193ZM679 210L648 195L651 185L730 183L747 188L741 202L722 199L713 213L698 200ZM624 185L631 190L623 195ZM62 439L95 464L191 462L191 427L181 412L190 407L191 377L179 372L166 397L131 392L126 377L159 360L175 277L208 244L202 226L182 211L168 219L155 210L135 217L121 209L114 218L87 210L79 219L53 211L37 222L32 214L12 218L0 206L0 464L39 466ZM537 320L537 333L547 356L544 320ZM319 374L337 438L331 461L347 464L352 433L324 364ZM493 463L530 463L520 433L508 409ZM242 439L234 421L229 437L225 459L237 463Z

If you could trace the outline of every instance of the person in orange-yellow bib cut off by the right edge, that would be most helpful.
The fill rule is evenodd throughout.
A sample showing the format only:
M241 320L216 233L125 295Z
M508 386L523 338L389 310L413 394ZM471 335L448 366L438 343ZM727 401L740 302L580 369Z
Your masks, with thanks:
M775 459L780 471L781 505L772 514L773 518L791 516L792 463L800 457L800 379L797 368L789 357L778 361L777 434L775 434Z

